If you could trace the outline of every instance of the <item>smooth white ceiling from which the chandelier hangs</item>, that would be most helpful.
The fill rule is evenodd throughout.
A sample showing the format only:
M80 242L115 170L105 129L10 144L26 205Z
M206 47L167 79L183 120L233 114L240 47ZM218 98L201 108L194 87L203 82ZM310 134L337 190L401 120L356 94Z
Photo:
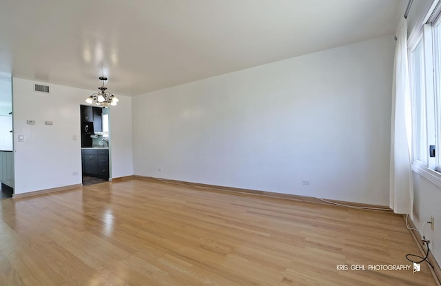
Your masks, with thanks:
M1 0L0 72L134 95L391 35L404 0Z

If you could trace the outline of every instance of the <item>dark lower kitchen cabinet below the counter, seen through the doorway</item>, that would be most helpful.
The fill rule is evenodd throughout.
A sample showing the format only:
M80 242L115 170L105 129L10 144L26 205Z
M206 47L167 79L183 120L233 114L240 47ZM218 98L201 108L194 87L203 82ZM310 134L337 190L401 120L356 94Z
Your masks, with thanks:
M109 150L82 149L81 159L84 175L109 178Z

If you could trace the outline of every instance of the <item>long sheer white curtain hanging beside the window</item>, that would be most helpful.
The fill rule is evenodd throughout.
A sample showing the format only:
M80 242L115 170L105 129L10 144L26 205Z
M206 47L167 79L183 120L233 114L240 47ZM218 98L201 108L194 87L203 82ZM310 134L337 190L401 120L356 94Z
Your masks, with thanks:
M389 207L397 214L412 216L411 94L407 60L407 19L404 17L398 24L396 37L392 86Z

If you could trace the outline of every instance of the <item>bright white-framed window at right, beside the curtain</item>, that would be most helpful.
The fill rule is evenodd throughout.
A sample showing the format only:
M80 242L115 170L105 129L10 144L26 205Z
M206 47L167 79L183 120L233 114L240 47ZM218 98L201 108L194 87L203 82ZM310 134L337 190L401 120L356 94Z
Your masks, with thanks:
M413 170L441 186L440 8L409 39Z

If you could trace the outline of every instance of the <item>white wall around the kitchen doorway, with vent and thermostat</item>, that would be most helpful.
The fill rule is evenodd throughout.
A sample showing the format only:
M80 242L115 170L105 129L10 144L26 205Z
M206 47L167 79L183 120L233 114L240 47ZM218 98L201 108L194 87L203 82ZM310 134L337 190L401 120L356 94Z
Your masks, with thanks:
M81 183L79 105L95 91L50 85L51 93L43 94L33 91L33 83L13 79L15 194ZM118 97L120 103L112 107L115 111L110 119L113 178L133 173L132 142L126 141L126 136L132 136L132 126L126 122L132 99ZM124 126L117 123L120 117ZM35 125L28 125L28 119ZM45 121L54 124L45 125ZM24 136L24 142L17 141L18 135Z

